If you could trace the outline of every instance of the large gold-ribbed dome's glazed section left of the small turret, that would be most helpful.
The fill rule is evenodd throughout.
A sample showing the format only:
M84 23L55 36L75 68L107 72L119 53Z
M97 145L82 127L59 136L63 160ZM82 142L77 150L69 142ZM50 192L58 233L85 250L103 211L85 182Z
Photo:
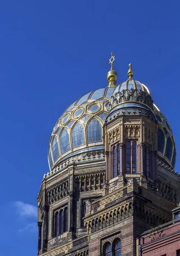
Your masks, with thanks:
M48 148L50 169L70 155L104 149L102 125L113 90L114 87L105 87L86 93L60 116Z

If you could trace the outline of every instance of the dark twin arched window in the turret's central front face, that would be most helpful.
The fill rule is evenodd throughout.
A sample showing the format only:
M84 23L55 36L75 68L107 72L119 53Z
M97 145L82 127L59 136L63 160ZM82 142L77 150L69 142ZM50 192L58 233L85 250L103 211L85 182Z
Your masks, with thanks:
M137 173L137 142L126 143L126 173Z

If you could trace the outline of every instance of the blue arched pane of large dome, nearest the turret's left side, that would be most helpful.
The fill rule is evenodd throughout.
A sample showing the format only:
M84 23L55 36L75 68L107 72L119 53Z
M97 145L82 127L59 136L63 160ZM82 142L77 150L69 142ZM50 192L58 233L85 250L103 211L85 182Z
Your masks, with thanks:
M101 125L96 118L93 118L87 126L88 143L101 141Z

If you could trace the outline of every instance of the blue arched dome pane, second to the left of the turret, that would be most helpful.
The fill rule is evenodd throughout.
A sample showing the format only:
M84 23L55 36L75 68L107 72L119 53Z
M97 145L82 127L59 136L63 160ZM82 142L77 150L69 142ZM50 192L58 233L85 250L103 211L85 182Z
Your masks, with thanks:
M72 131L73 147L84 144L84 130L82 125L77 122Z

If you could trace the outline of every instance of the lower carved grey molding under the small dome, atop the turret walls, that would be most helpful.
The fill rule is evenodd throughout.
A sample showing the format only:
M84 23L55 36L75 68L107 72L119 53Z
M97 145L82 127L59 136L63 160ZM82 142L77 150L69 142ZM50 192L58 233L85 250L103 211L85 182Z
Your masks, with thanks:
M113 114L111 114L110 116L107 117L107 119L105 119L105 123L110 122L111 120L115 119L118 116L121 115L125 115L125 116L146 116L148 119L152 120L153 122L156 122L155 116L150 113L149 111L146 110L140 110L140 109L120 109L115 111Z

